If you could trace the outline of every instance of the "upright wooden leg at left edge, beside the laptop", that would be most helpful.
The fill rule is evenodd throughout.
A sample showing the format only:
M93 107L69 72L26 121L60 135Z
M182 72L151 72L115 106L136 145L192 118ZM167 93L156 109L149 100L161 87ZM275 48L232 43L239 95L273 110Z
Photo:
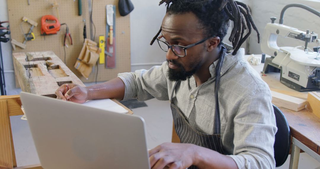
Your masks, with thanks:
M13 168L7 101L0 101L0 168Z

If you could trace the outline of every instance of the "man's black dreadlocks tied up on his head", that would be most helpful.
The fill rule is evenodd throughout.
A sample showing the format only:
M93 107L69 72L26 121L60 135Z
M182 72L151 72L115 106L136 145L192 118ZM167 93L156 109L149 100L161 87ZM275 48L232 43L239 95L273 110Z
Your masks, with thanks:
M229 37L234 49L233 55L236 55L240 46L249 37L252 28L257 32L258 43L260 43L260 33L253 22L250 9L242 2L234 0L161 0L159 5L164 2L168 15L194 13L205 30L204 34L220 37L219 46L223 44L222 40L227 34L229 20L233 21ZM248 29L248 33L244 35L246 29ZM161 31L160 28L150 45L154 43Z

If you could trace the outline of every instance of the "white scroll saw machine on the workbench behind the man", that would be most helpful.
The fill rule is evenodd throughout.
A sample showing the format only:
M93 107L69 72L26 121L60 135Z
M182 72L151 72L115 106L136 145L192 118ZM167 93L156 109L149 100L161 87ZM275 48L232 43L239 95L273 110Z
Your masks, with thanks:
M276 18L271 17L261 43L261 51L271 57L266 58L262 73L281 72L280 82L299 92L320 90L320 39L315 32L304 32L283 25L284 11L289 7L303 8L320 17L319 11L303 4L286 5L281 11L279 23L275 23ZM299 39L305 45L279 47L278 36ZM317 43L316 52L308 51L308 43ZM304 49L299 49L301 47Z

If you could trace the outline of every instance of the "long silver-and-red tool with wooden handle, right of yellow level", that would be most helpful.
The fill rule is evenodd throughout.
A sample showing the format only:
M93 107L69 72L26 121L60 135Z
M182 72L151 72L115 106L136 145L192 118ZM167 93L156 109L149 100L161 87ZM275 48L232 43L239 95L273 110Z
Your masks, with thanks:
M106 68L116 67L116 6L106 5L107 27L106 27Z

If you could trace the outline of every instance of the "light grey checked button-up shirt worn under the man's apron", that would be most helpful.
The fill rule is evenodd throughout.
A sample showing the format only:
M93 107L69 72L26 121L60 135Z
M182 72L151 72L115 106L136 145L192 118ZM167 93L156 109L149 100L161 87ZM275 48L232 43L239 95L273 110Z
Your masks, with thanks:
M218 89L222 147L241 168L275 168L273 144L276 119L268 85L244 60L244 49L235 56L225 56ZM210 67L211 78L200 86L192 76L177 85L173 103L188 117L191 126L206 134L213 133L216 77L215 61ZM168 80L168 66L121 73L124 100L140 101L156 98L169 100L175 82Z

